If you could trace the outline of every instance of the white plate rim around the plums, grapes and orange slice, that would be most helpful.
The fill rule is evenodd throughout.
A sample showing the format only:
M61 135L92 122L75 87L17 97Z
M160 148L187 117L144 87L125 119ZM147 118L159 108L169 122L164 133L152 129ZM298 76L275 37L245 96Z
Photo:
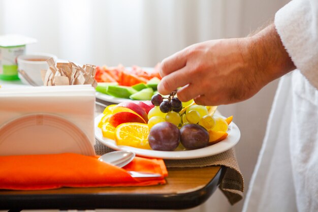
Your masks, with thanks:
M226 150L229 150L237 144L241 137L239 128L235 123L231 122L228 130L228 137L216 144L194 150L174 150L174 151L158 151L151 149L141 149L131 146L117 145L116 141L103 137L102 130L98 127L103 114L100 114L95 118L95 137L98 141L104 145L115 149L115 150L128 150L134 152L138 156L146 158L161 158L161 159L172 159L172 160L181 160L181 159L194 159L194 158L203 158L212 155L217 155ZM223 117L224 118L224 117Z

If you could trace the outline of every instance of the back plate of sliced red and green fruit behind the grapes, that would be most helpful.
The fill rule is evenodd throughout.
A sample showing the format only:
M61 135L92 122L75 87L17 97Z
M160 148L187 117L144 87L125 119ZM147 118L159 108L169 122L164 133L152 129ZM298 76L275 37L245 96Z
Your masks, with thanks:
M156 94L157 85L160 82L156 67L99 68L96 74L98 81L96 97L112 103L150 100L152 95Z

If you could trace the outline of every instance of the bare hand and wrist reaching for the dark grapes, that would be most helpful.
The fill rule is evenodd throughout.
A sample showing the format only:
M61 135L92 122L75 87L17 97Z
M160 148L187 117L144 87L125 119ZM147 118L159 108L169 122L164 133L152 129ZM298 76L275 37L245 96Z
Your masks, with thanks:
M246 100L292 70L274 25L254 37L212 40L189 46L161 63L158 91L178 89L178 98L200 105ZM287 63L288 62L288 63Z

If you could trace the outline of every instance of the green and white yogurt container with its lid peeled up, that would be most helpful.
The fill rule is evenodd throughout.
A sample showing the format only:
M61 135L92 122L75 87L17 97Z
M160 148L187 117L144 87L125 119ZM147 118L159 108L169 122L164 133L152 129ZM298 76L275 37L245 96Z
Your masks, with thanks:
M34 38L21 35L0 36L0 79L19 79L17 57L25 54L27 44L36 42L37 40Z

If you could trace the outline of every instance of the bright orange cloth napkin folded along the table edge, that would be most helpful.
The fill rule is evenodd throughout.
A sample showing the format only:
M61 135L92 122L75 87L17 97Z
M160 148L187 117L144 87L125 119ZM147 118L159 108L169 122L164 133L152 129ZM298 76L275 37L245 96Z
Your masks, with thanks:
M126 171L161 173L162 177L134 178ZM165 184L168 172L161 159L136 157L118 168L97 156L73 153L0 156L0 189L41 190L61 187L149 186Z

